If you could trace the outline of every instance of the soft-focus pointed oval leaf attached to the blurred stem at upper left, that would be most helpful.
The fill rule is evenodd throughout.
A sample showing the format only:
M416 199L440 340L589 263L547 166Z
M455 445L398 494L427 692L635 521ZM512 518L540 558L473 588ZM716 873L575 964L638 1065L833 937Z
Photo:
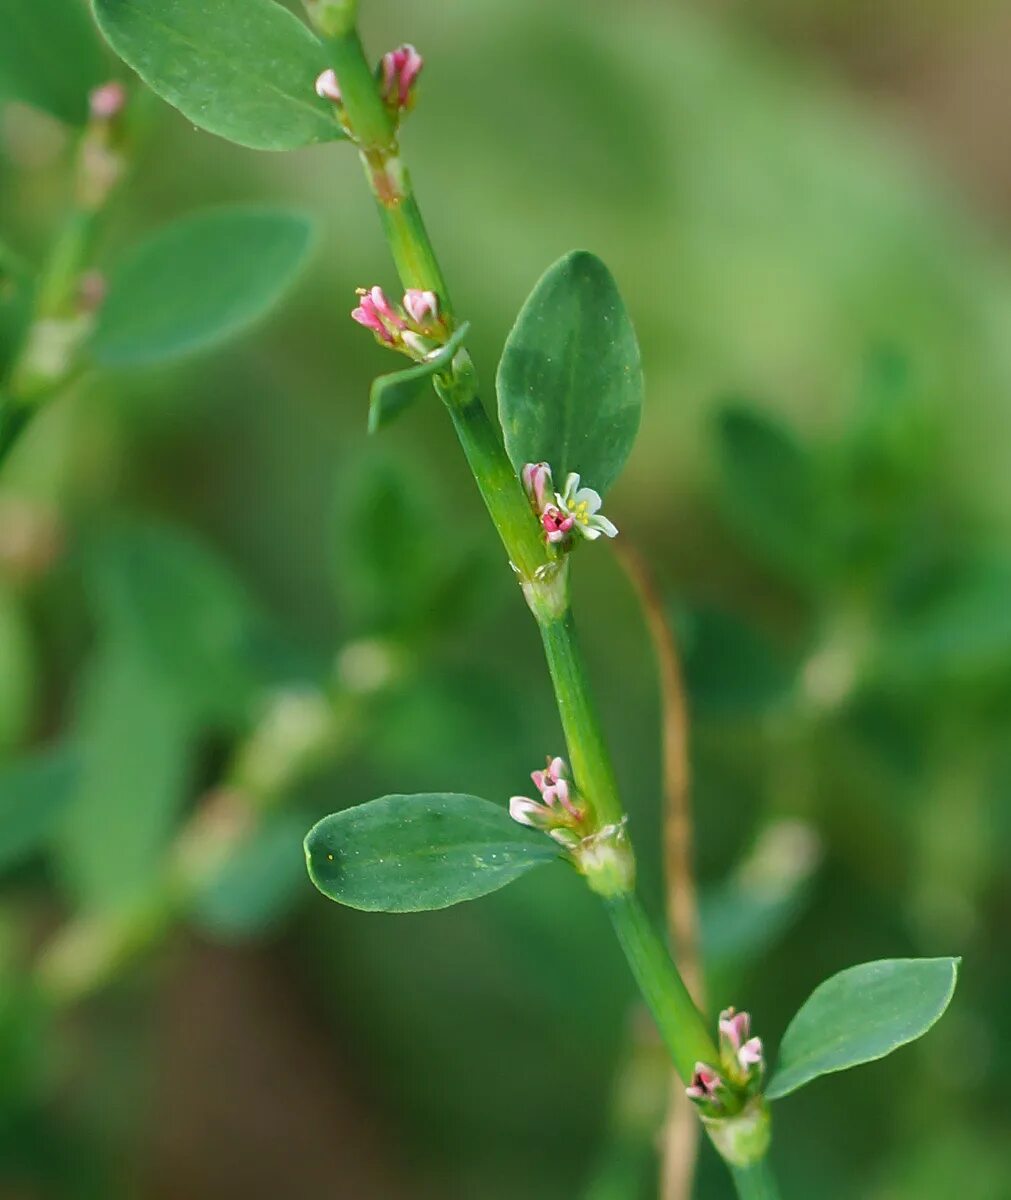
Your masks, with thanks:
M282 209L174 222L112 272L92 356L106 367L151 366L234 337L291 287L311 235L306 217Z

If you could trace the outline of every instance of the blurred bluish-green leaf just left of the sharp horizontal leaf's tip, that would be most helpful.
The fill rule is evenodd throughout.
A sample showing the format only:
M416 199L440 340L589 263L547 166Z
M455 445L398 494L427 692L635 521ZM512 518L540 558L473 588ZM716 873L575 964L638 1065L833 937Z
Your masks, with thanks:
M283 920L307 890L304 834L298 812L268 818L196 896L193 922L231 941L257 937Z

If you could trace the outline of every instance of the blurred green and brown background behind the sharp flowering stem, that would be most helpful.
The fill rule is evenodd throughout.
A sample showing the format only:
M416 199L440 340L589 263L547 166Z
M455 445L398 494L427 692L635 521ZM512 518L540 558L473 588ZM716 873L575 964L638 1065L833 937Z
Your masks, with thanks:
M922 1043L776 1106L784 1195L1011 1195L1007 6L363 7L376 56L427 61L405 149L486 392L567 250L636 322L647 412L608 512L681 634L713 1012L774 1045L836 970L964 956ZM29 259L67 173L58 125L0 108ZM562 868L407 918L305 878L316 817L504 800L561 734L437 402L366 438L389 364L346 313L394 280L355 156L256 155L158 106L102 260L246 199L318 222L282 310L85 380L0 479L0 1195L654 1195L663 1068ZM659 916L650 646L611 556L575 565ZM270 792L319 706L336 743L164 920L173 839L234 748L256 737L238 774ZM114 970L53 1012L32 964L82 919L52 971L109 928ZM729 1195L706 1154L695 1195Z

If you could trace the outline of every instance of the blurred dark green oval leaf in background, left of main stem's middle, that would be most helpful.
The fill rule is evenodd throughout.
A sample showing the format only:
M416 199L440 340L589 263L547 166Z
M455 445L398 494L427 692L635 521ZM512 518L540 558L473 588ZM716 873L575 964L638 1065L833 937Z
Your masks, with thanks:
M384 455L348 466L337 490L334 581L361 632L388 634L424 619L444 552L423 475Z

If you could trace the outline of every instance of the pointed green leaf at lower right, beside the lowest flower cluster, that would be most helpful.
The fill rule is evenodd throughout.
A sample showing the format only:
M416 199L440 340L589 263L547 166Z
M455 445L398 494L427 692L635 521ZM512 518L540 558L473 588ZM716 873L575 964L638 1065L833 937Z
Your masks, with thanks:
M840 971L790 1021L766 1094L884 1058L922 1037L951 1003L959 959L885 959Z

